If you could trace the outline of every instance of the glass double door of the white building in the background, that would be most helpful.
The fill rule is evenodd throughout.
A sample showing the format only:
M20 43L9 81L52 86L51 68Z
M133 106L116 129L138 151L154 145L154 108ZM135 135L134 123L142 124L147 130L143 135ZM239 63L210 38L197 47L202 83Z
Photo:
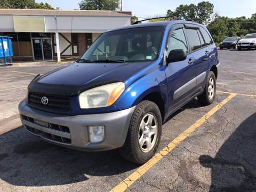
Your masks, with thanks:
M52 60L52 39L33 38L34 60Z

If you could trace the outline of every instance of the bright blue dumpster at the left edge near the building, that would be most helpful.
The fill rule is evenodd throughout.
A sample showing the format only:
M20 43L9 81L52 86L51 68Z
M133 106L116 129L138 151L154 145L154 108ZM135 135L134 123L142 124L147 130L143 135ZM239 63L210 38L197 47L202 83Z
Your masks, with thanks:
M0 36L0 60L7 65L7 62L12 63L12 56L12 37Z

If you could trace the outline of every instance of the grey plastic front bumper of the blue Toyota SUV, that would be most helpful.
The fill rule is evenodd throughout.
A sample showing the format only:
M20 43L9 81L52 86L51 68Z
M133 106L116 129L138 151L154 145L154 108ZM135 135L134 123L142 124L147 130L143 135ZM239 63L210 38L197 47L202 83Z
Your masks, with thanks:
M135 106L129 109L106 114L64 116L30 108L23 100L19 113L23 126L31 134L56 145L85 151L103 151L122 147ZM46 126L35 121L45 122ZM91 143L89 126L103 125L104 139Z

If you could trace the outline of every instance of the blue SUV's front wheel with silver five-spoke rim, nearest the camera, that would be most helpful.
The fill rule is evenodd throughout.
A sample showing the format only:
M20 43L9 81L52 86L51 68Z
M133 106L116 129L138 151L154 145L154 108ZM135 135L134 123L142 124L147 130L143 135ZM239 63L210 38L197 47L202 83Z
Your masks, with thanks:
M151 118L153 120L149 123ZM125 143L119 148L119 152L130 162L146 163L156 153L161 135L162 117L159 108L154 102L142 101L134 110ZM148 145L149 142L151 147Z

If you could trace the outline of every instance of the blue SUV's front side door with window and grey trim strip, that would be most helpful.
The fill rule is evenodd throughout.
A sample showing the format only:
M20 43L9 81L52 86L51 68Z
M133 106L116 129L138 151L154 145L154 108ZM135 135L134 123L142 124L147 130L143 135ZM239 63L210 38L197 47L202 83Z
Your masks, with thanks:
M188 42L183 25L174 25L169 31L166 55L176 49L185 50L188 55L184 61L166 63L165 74L168 84L169 113L194 94L196 86L194 59L189 53ZM192 62L191 62L192 61Z

